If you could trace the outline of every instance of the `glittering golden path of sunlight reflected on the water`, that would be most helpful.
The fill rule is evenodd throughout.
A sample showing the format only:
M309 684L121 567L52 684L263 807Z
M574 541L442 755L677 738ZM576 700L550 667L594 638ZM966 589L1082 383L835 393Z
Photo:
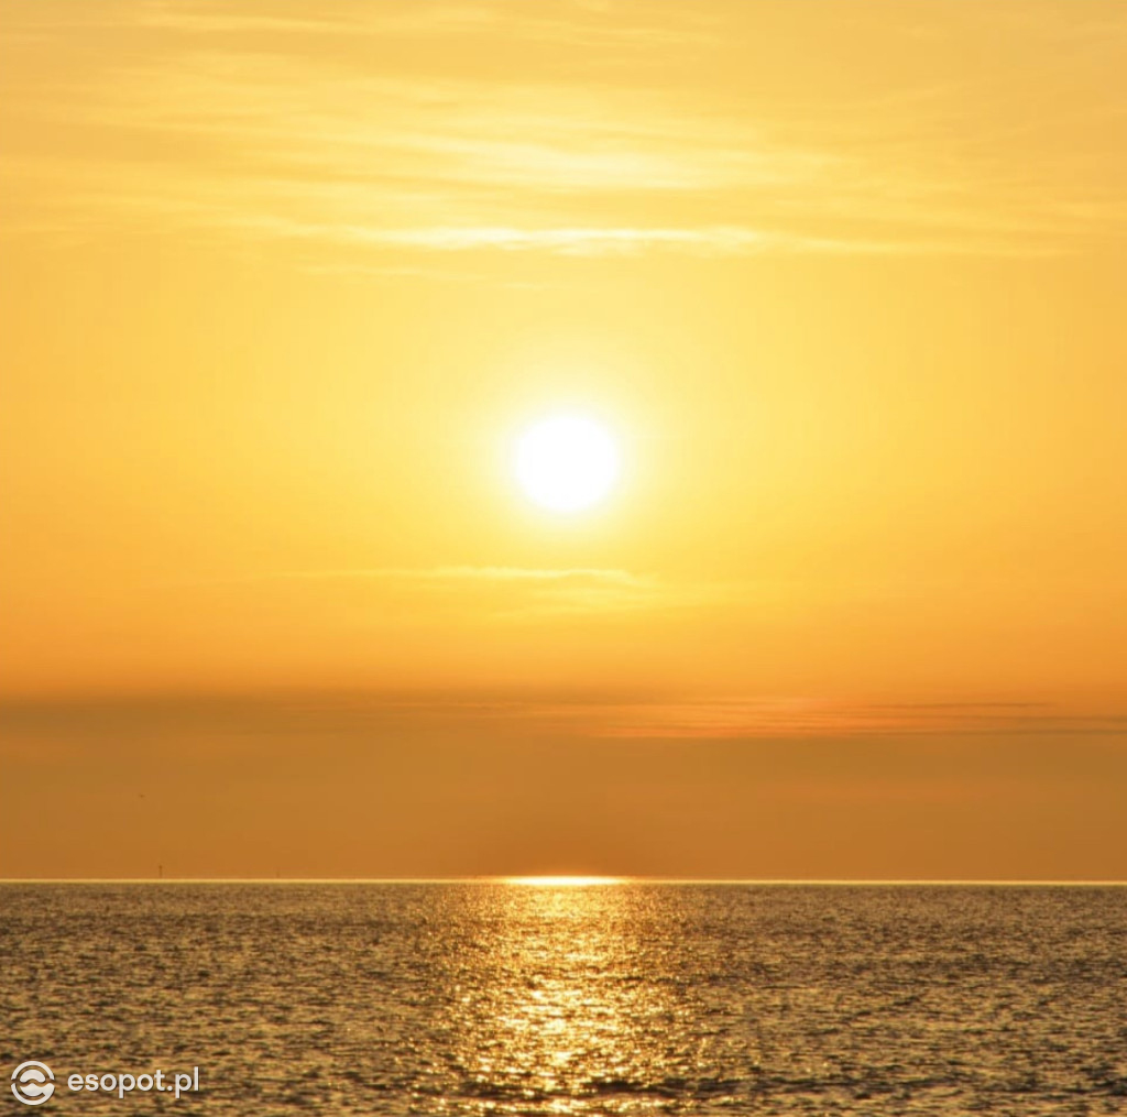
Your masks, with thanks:
M494 1101L591 1112L602 1096L606 1111L628 1111L631 1087L653 1080L646 1064L676 1007L668 985L635 972L644 946L633 911L639 897L605 887L620 883L517 877L506 884L522 887L496 896L502 917L485 967L495 979L482 983L474 964L455 1056L471 1091L487 1101L483 1110Z

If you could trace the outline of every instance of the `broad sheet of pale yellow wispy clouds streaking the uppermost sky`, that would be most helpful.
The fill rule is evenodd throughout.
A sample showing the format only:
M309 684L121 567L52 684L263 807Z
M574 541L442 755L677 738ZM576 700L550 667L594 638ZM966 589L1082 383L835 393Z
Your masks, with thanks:
M1127 232L1127 167L1101 131L1127 112L1121 94L1031 116L1002 67L849 98L798 87L762 98L711 77L754 30L738 12L726 26L716 12L631 11L88 12L143 47L115 52L110 37L98 59L6 98L8 227L300 238L320 265L497 251L1039 255ZM1109 54L1127 52L1127 33L1104 26L1109 45L1074 23L1056 20L1074 32L1070 51L1093 54L1097 80ZM921 27L940 41L949 32ZM64 48L66 34L32 11L7 29L6 50ZM1006 34L1020 53L1048 32L1030 19ZM538 44L539 72L474 62L472 43L498 37ZM689 44L675 98L647 53L665 57L672 41ZM458 64L411 63L419 43ZM77 142L45 157L39 138L56 128Z

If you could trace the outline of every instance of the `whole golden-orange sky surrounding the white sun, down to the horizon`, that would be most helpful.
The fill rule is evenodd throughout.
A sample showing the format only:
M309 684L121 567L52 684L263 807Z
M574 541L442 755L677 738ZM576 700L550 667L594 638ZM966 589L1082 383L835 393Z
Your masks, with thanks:
M0 117L0 875L1127 877L1122 3L2 2Z

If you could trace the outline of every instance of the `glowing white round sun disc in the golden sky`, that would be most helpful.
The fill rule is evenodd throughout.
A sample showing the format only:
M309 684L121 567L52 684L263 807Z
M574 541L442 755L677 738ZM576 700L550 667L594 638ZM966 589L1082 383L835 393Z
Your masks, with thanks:
M582 512L618 484L619 451L592 419L552 415L517 438L513 469L521 488L542 508Z

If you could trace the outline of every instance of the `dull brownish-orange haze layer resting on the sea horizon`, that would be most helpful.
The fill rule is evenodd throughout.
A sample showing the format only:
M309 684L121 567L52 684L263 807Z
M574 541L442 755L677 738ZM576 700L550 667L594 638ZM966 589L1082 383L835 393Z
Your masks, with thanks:
M612 700L9 706L0 709L0 876L149 877L158 865L166 877L1044 879L1075 878L1082 865L1089 879L1121 879L1127 870L1122 732L662 741L584 732L577 711L587 704L597 721ZM633 716L645 706L627 704Z

